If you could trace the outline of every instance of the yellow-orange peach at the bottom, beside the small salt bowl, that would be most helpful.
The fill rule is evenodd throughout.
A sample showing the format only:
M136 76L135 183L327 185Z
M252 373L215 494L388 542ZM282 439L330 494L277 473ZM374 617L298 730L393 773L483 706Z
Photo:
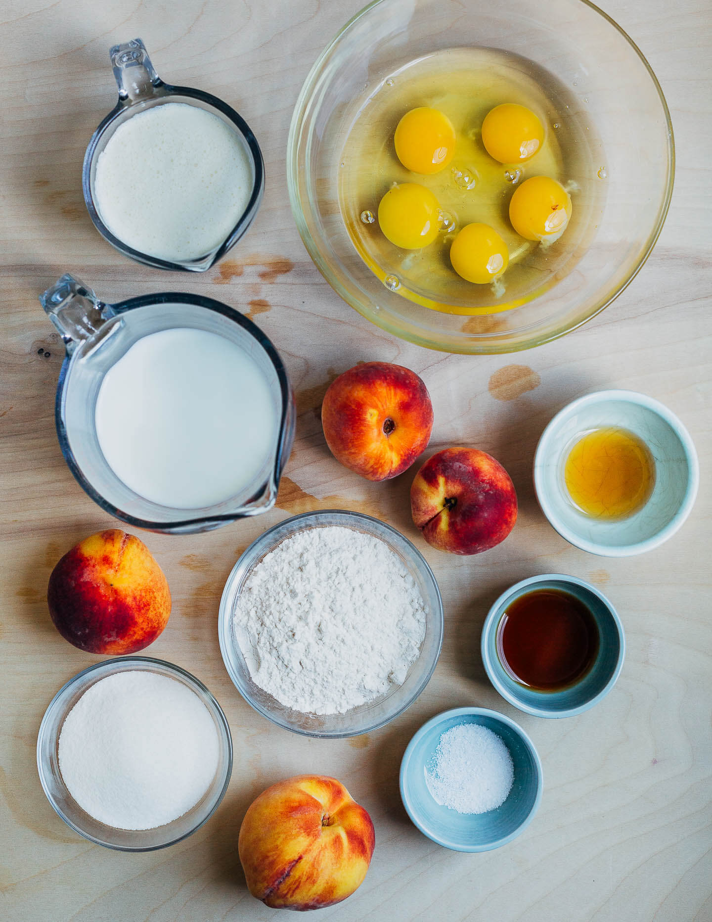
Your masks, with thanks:
M252 896L274 909L341 903L366 877L374 845L368 812L321 774L299 774L263 791L238 841Z

